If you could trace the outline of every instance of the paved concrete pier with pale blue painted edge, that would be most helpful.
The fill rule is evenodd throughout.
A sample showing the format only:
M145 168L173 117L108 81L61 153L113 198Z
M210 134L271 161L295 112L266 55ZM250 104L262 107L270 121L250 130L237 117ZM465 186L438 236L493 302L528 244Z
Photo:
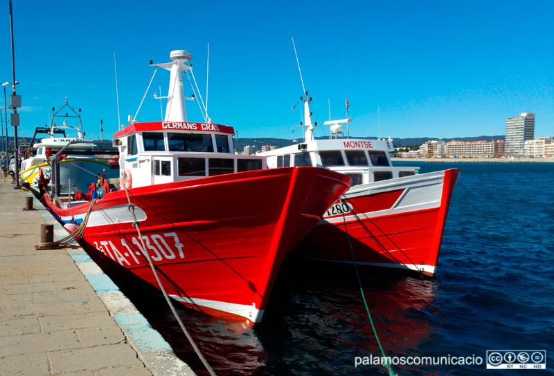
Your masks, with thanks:
M67 232L28 196L0 178L0 374L194 375L77 243L35 250Z

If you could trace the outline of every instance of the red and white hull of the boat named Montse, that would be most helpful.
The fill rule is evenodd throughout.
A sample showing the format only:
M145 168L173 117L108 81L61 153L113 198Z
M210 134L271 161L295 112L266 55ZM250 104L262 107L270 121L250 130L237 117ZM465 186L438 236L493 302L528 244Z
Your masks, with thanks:
M448 169L355 186L342 203L332 205L295 254L351 264L351 245L357 265L434 276L457 179L458 169Z

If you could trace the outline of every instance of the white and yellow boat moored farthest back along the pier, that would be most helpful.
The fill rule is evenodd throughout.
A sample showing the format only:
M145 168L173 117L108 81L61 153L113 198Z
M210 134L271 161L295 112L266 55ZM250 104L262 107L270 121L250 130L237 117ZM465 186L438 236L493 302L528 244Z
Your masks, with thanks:
M62 110L71 111L62 114ZM56 120L62 118L62 125L56 124ZM77 124L68 125L68 121L76 119ZM48 136L34 143L35 137L39 133L46 133ZM39 192L39 183L48 189L55 182L51 181L52 169L49 159L64 149L64 154L60 160L60 182L59 189L62 194L75 195L81 192L81 195L87 194L90 182L94 178L103 176L106 180L117 178L118 169L112 169L107 158L110 153L117 151L107 151L98 149L93 140L84 138L80 114L75 112L69 104L67 98L64 106L53 113L51 124L48 128L39 127L35 130L31 147L29 147L21 162L21 182L27 182L30 188ZM96 180L94 179L94 180Z

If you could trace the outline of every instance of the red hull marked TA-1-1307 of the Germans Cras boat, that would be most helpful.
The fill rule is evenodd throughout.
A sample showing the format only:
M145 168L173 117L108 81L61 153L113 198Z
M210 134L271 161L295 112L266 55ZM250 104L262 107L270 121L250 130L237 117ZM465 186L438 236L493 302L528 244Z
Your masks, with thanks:
M320 168L233 173L129 190L164 288L188 306L259 322L280 264L350 178ZM316 189L314 188L316 187ZM60 209L79 220L89 204ZM141 250L125 191L93 207L85 245L157 286Z

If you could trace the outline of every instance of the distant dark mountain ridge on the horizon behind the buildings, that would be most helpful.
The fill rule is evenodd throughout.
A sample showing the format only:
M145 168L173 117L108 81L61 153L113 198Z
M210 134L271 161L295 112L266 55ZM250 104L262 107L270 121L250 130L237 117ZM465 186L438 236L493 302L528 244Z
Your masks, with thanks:
M377 140L377 137L352 137L352 138L364 138L366 140ZM327 137L316 137L316 140L327 140ZM435 138L435 137L422 137L422 138L393 138L393 144L395 147L398 146L412 146L412 145L420 145L427 141L432 140L442 140L445 142L456 140L456 141L492 141L492 140L504 140L503 135L480 135L477 137L455 137L455 138ZM234 140L236 142L236 140ZM301 142L302 139L299 140L283 140L282 138L239 138L238 143L239 147L238 149L242 151L244 147L246 146L253 146L256 151L260 151L262 149L263 145L275 145L276 147L287 147L289 145L295 144L296 142ZM236 144L235 144L236 147Z

